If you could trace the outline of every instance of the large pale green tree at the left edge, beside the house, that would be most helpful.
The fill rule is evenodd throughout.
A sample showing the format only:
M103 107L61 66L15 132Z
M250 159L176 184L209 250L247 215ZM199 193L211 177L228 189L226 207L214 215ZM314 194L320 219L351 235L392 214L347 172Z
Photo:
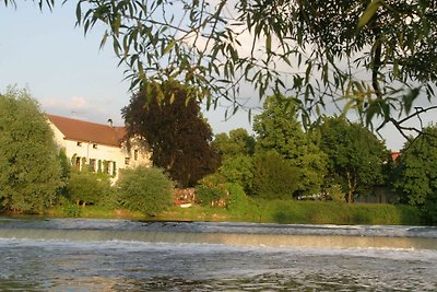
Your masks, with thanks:
M39 212L61 187L52 131L26 90L0 95L0 205L11 211Z

